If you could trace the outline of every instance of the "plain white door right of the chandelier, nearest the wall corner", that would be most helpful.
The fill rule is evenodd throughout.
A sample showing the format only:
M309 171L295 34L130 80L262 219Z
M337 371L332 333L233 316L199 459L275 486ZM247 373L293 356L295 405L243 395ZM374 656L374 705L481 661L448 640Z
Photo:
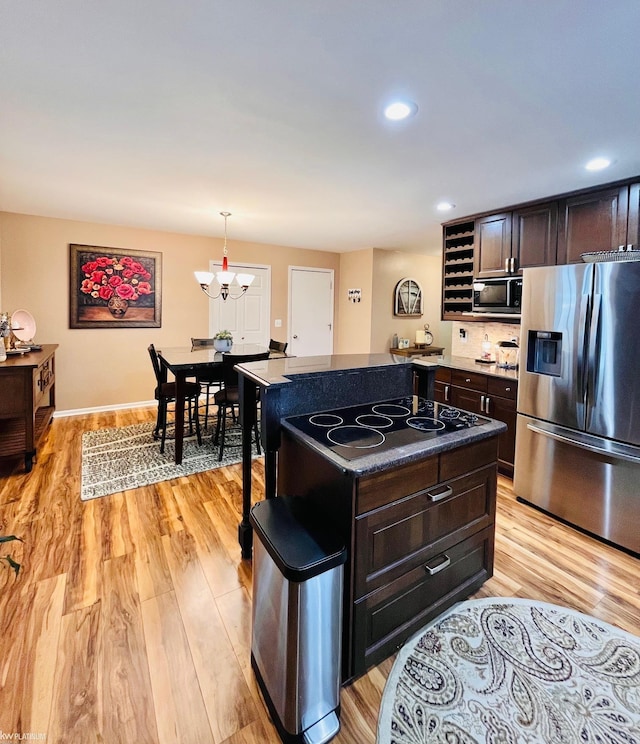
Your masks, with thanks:
M333 271L289 267L289 354L333 354Z

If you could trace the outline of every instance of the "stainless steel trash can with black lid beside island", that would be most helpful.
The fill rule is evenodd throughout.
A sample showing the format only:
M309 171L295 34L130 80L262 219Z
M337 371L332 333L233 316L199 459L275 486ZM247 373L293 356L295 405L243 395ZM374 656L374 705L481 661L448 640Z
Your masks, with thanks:
M251 666L283 742L340 730L343 564L347 551L301 498L252 508Z

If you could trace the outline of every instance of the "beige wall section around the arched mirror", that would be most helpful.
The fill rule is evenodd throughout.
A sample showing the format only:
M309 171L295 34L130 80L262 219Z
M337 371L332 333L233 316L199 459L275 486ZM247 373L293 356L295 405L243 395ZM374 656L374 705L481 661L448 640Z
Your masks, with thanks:
M417 279L422 287L423 315L421 318L398 318L393 314L396 284L405 277ZM387 351L393 334L409 338L413 343L416 330L429 324L433 345L447 347L451 342L449 323L440 320L442 259L401 251L373 250L373 307L371 314L371 351ZM445 348L445 353L450 353Z

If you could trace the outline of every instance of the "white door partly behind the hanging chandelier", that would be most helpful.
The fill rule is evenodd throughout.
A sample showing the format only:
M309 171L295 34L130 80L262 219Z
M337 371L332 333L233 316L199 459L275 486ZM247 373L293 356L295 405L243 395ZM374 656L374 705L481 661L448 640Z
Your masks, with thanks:
M219 261L211 261L209 271L220 271ZM253 274L255 279L243 297L223 300L218 297L209 302L209 334L213 336L223 329L231 331L237 344L269 345L269 325L271 314L271 267L251 264L229 264L230 271L243 271ZM217 285L213 280L212 287ZM235 288L234 288L235 285ZM232 283L231 295L239 292L238 285Z

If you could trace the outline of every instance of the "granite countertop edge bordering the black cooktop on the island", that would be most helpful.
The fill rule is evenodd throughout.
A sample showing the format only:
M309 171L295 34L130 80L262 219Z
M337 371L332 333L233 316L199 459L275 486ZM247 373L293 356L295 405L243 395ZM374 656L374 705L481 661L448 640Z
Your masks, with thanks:
M459 429L458 431L440 434L433 438L425 437L422 441L412 442L401 447L394 447L379 454L363 455L355 460L346 460L328 447L316 442L315 439L289 423L287 419L284 419L281 425L283 429L286 429L296 439L318 452L343 473L356 476L370 475L381 470L407 465L416 460L437 455L440 452L447 452L457 447L464 447L467 444L479 442L482 439L494 437L502 434L507 429L506 424L503 424L501 421L489 420L486 424L480 426Z

